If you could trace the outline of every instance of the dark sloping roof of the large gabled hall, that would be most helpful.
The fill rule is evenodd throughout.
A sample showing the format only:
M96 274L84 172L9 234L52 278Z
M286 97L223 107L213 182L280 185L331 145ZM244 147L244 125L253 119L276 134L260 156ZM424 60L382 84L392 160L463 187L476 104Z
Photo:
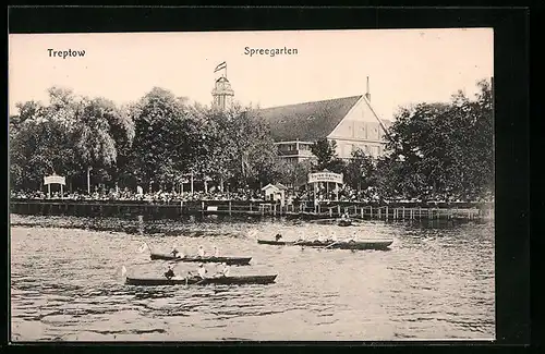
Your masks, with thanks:
M362 98L351 96L322 101L261 109L275 142L315 142L328 136L350 109Z

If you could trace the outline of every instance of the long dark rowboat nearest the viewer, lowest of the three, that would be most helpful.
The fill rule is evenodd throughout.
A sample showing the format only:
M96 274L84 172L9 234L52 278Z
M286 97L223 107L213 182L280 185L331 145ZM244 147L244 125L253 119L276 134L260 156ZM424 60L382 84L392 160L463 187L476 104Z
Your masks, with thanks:
M246 284L270 284L275 282L275 276L241 276L241 277L217 277L217 278L125 278L125 284L140 286L160 285L246 285Z

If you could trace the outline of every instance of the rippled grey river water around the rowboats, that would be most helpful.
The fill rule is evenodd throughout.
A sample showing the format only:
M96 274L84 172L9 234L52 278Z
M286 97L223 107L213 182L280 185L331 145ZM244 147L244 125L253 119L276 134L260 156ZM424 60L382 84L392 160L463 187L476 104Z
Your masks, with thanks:
M12 341L382 341L495 338L494 225L11 216ZM252 232L251 232L252 231ZM392 239L390 251L259 245L282 233ZM131 286L167 263L137 253L217 245L269 285ZM174 271L194 271L178 264ZM214 265L208 264L214 271Z

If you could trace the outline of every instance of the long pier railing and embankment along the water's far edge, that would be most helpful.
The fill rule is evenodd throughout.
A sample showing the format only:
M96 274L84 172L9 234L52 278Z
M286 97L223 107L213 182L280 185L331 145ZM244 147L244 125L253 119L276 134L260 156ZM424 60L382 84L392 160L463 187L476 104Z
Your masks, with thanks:
M365 204L355 202L296 202L281 205L275 202L250 200L11 200L11 212L20 215L130 216L144 215L179 218L184 215L284 216L288 218L327 219L348 213L354 219L494 219L491 204Z

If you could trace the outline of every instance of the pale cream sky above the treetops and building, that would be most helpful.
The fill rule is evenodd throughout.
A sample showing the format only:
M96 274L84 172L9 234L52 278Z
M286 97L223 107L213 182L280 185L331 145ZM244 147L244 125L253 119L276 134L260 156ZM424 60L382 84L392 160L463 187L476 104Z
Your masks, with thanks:
M154 86L210 105L227 62L234 99L262 108L363 95L382 119L399 107L448 101L494 75L492 28L209 33L16 34L9 36L9 107L48 101L47 88L138 100ZM249 56L250 49L296 54ZM49 50L52 49L52 50ZM83 57L53 51L85 50Z

